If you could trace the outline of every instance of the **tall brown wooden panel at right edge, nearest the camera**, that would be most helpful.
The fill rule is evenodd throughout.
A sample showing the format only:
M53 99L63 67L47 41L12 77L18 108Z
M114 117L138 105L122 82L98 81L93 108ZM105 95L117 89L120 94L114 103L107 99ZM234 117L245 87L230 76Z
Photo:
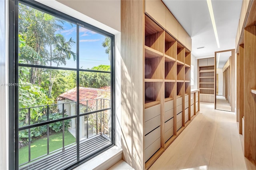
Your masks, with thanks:
M256 26L244 29L244 156L256 159ZM248 75L248 73L252 73Z

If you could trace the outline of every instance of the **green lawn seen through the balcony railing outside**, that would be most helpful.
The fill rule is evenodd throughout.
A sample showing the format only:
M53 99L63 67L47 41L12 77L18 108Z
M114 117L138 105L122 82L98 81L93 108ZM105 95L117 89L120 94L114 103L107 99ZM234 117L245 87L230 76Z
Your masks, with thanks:
M75 143L76 138L70 133L65 133L64 144L65 146ZM62 148L62 132L52 134L49 136L49 152ZM31 160L47 154L47 137L40 138L31 143L30 146ZM28 162L28 146L19 149L19 164Z

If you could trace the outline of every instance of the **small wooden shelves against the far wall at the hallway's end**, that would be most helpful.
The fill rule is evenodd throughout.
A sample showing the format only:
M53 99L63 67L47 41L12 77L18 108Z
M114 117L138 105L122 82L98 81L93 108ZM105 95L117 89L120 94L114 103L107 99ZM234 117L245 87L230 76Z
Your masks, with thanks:
M205 60L205 59L204 59ZM198 61L199 62L199 61ZM214 64L214 63L212 63ZM214 65L198 67L198 87L200 89L200 101L214 103L215 70Z

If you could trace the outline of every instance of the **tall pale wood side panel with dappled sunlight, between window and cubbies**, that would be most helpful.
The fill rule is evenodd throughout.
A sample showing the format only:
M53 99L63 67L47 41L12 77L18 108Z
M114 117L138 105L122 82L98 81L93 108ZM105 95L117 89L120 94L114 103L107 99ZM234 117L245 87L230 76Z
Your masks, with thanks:
M144 1L121 1L122 159L144 169Z

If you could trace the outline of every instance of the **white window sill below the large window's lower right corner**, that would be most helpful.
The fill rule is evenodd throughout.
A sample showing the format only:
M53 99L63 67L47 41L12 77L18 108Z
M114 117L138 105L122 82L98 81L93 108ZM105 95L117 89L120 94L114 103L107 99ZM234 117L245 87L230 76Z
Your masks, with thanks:
M122 159L122 149L113 146L73 170L108 169Z

